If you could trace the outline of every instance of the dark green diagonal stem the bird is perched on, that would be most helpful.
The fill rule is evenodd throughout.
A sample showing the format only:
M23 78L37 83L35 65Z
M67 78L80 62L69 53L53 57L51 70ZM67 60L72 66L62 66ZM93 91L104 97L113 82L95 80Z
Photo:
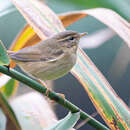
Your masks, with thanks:
M106 126L104 126L103 124L101 124L100 122L98 122L97 120L92 118L91 116L89 116L87 113L80 110L80 108L78 108L77 106L75 106L74 104L69 102L68 100L63 99L62 97L58 96L58 94L56 94L53 91L48 92L47 88L43 87L40 83L31 79L30 77L27 77L24 74L19 73L14 69L8 70L8 68L5 66L0 66L0 72L4 73L12 78L15 78L16 80L30 86L31 88L44 94L45 96L48 96L50 99L56 101L58 104L61 104L62 106L64 106L68 110L70 110L72 113L80 111L80 118L82 120L89 118L90 120L88 121L88 124L95 127L96 129L109 130Z

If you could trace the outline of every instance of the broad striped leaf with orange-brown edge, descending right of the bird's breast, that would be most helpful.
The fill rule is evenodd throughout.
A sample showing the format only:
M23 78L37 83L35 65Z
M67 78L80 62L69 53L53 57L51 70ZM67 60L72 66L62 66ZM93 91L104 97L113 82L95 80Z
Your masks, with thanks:
M130 128L129 108L81 49L78 51L77 64L71 72L80 80L97 111L111 129Z

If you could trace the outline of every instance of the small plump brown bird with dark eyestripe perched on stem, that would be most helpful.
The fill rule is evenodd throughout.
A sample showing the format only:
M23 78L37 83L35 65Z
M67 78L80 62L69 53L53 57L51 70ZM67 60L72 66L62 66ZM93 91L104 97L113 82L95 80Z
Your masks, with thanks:
M60 32L34 46L18 52L8 51L9 57L31 76L55 80L67 74L76 63L79 40L86 33Z

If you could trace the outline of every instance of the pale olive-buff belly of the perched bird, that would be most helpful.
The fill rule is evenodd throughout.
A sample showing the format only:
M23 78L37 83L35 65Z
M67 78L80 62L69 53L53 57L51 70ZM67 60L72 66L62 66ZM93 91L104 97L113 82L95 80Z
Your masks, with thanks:
M76 62L76 57L67 57L67 59L55 62L29 62L21 65L21 68L32 76L41 80L55 80L67 74ZM31 68L31 69L30 69Z

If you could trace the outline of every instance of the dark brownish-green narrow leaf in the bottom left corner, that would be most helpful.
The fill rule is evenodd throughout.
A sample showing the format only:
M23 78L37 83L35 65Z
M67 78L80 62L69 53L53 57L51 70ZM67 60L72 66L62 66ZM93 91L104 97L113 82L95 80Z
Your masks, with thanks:
M8 104L6 98L0 92L0 107L2 108L4 114L7 117L7 121L10 121L10 124L16 130L21 130L20 124L16 118L16 115L12 109L12 107Z

